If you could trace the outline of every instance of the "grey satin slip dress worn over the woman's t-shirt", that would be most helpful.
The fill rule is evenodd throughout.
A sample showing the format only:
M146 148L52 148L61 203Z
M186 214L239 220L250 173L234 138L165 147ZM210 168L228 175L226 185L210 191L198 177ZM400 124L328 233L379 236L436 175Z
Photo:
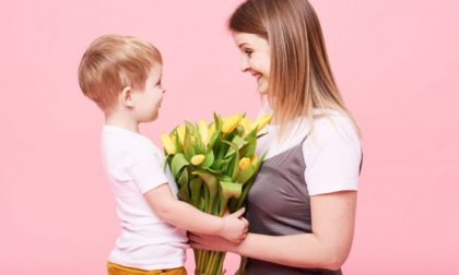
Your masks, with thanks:
M306 136L307 138L307 136ZM311 232L303 143L263 162L247 198L249 231L269 236ZM298 268L248 259L246 275L340 275L340 271Z

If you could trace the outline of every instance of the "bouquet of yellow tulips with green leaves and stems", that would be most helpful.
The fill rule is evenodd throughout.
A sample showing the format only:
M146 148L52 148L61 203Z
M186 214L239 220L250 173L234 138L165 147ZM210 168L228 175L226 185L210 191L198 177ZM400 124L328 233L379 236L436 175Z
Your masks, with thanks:
M178 186L177 196L205 213L223 216L244 206L262 159L255 148L258 132L271 116L249 121L245 115L211 123L186 122L161 139L166 164ZM196 274L223 274L224 252L195 250Z

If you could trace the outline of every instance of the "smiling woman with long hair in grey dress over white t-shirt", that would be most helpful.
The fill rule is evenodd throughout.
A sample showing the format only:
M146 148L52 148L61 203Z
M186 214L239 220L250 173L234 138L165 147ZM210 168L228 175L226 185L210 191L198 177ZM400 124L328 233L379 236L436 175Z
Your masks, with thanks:
M228 27L273 115L259 143L268 154L247 199L247 238L191 235L192 247L247 256L245 274L342 274L362 153L317 15L307 0L247 0Z

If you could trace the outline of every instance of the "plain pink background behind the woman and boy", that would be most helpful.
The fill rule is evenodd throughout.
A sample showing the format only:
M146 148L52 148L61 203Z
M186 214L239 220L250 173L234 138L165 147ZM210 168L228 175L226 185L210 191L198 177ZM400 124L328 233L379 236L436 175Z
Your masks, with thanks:
M225 29L239 1L0 3L0 273L105 274L119 231L99 159L103 116L76 68L95 37L151 40L165 60L160 133L259 108ZM346 274L459 274L459 3L313 0L364 132ZM456 79L456 80L454 80ZM237 256L228 256L228 274ZM455 263L456 262L456 263ZM187 266L193 270L190 258ZM192 273L191 273L192 274Z

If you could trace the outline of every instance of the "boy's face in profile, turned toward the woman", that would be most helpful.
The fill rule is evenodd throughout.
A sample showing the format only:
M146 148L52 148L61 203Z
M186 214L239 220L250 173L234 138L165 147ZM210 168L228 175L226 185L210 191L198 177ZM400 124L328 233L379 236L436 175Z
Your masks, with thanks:
M163 76L163 67L154 65L145 81L143 91L136 91L134 111L139 122L151 122L157 119L161 101L166 92L161 80Z

